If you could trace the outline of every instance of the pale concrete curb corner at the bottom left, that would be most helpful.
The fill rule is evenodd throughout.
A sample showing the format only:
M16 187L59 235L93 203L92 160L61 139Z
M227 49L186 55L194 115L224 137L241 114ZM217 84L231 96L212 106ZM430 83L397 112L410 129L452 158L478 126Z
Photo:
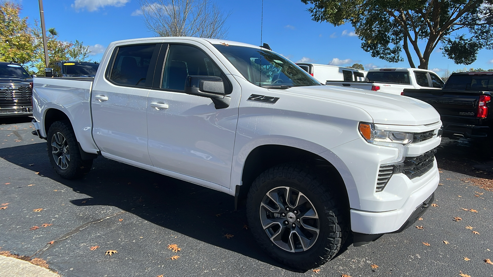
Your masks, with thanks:
M0 255L0 276L5 277L60 277L60 275L30 262Z

